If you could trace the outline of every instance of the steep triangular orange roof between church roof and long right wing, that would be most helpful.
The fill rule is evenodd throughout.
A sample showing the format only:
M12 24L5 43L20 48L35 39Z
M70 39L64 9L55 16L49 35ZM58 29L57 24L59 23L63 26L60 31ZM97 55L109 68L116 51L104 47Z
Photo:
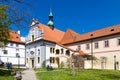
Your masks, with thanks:
M78 33L68 29L60 43L66 44L66 43L74 42L77 41L79 38L80 35Z

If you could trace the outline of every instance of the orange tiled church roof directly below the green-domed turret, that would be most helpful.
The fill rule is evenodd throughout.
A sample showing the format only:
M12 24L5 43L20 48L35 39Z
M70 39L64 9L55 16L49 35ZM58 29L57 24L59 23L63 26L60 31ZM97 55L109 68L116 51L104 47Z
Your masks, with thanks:
M52 42L60 42L64 35L64 32L62 32L58 29L52 30L48 26L43 25L41 23L38 24L38 29L43 30L43 32L44 32L43 39L44 40L48 40L48 41L52 41Z

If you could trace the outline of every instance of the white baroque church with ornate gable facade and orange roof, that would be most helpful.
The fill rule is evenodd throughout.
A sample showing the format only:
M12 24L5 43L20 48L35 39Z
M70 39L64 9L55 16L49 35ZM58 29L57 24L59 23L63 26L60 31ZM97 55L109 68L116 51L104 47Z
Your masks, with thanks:
M29 34L26 38L26 67L41 68L51 65L58 67L66 56L71 56L73 50L61 47L58 43L62 39L64 32L38 23L32 20Z

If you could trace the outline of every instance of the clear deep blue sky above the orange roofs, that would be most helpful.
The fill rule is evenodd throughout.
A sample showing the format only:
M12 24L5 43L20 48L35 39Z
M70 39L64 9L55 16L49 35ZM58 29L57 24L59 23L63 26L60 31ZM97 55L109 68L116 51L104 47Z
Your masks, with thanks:
M46 25L51 7L55 28L62 31L72 29L83 34L120 24L120 0L32 0L31 3L31 16ZM27 34L28 29L21 29L21 36Z

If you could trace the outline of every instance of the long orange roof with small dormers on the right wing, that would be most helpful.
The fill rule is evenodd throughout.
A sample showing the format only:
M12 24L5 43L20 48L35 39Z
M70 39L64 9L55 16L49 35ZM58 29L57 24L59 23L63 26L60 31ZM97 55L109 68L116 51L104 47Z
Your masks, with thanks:
M117 34L117 33L120 33L120 25L115 25L115 26L111 26L108 28L89 32L86 34L81 34L79 39L77 39L76 41L68 41L68 42L63 41L62 44L69 44L69 43L71 44L71 43L76 43L76 42L80 42L80 41L84 41L84 40L109 36L109 35L113 35L113 34Z

